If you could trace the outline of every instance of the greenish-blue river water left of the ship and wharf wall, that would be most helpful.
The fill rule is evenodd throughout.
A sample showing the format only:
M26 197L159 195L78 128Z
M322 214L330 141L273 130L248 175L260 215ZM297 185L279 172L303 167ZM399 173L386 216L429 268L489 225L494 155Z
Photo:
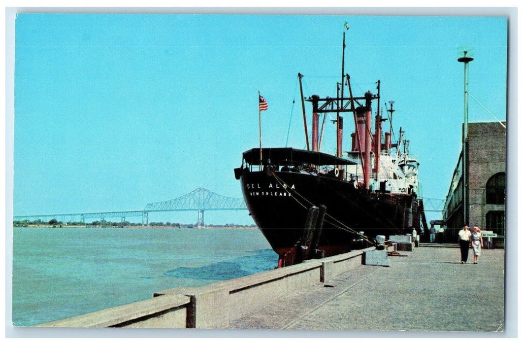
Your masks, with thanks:
M267 271L277 260L257 229L14 228L13 324Z

